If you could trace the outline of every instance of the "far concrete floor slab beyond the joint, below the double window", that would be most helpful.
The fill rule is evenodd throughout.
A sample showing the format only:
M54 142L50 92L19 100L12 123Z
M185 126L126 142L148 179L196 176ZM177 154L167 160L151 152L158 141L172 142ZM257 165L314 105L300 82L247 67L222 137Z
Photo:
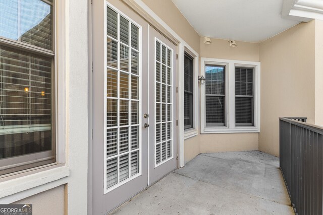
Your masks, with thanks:
M279 158L262 152L201 154L176 173L290 205Z

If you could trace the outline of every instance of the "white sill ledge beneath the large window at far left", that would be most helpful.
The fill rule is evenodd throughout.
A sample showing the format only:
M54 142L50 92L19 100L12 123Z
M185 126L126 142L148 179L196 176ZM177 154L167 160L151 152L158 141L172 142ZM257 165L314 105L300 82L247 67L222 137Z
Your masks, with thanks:
M0 203L11 203L53 187L66 184L67 180L60 179L66 178L69 175L70 170L67 166L53 165L3 178L5 181L0 182ZM51 182L57 183L44 187L43 190L39 189L40 186L51 184ZM38 189L33 190L33 188ZM23 194L25 191L28 193ZM15 196L17 193L19 193L19 197L17 197L17 195Z

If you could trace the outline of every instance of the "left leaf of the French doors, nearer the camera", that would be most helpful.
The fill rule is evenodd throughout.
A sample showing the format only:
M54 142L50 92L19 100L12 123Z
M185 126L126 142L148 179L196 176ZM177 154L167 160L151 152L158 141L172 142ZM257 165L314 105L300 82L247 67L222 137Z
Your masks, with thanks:
M92 26L92 214L105 214L148 184L148 24L120 1L93 1Z

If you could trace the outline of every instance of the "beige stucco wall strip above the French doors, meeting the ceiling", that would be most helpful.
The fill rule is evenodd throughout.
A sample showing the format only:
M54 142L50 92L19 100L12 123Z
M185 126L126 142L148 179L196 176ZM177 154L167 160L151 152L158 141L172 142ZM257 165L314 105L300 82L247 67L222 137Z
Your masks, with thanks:
M200 36L188 23L172 0L142 0L160 19L173 29L197 53L200 51Z

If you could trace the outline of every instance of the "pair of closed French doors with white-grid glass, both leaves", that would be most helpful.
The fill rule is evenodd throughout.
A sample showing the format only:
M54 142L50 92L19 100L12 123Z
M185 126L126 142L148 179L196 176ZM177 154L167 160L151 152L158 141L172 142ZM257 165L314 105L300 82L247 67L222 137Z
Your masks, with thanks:
M176 168L176 46L121 1L91 13L91 212L105 214Z

